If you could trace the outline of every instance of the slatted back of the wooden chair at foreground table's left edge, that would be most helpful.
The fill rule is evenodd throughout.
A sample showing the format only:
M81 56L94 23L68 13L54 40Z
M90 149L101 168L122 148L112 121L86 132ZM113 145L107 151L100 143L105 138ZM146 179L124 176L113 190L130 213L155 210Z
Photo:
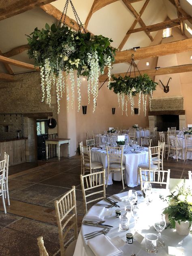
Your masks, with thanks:
M71 190L66 192L59 200L55 200L54 204L60 240L60 255L64 256L64 246L71 241L71 239L69 239L66 243L64 243L65 238L68 237L69 231L73 228L73 237L77 239L78 236L75 186L73 186ZM69 227L64 231L67 225L69 225Z

